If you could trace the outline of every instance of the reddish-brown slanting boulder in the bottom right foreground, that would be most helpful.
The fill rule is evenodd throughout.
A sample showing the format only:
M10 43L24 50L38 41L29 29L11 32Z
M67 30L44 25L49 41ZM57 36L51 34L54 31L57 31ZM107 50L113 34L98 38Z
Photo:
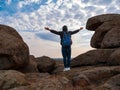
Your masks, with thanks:
M104 82L106 82L106 80L109 80L109 78L119 73L120 73L120 66L96 67L94 69L75 73L73 76L73 85L78 90L84 90L84 89L94 90L94 88L99 87L98 85L103 84ZM95 90L104 90L104 89L95 89Z

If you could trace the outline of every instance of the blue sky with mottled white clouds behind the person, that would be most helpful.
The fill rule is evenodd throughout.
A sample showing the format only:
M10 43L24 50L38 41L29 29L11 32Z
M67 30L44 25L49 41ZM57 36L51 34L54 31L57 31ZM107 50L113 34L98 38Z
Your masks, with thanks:
M90 17L120 13L120 0L0 0L0 24L17 30L35 57L61 58L59 36L44 27L61 31L67 25L70 31L84 27L72 36L72 57L93 48L90 40L94 31L86 29Z

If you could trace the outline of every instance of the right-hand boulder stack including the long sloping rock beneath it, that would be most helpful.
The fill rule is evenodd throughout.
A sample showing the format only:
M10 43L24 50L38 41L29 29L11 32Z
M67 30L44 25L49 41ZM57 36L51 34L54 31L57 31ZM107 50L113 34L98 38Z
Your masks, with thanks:
M120 14L92 17L86 28L95 31L91 46L97 49L75 57L71 65L120 65Z

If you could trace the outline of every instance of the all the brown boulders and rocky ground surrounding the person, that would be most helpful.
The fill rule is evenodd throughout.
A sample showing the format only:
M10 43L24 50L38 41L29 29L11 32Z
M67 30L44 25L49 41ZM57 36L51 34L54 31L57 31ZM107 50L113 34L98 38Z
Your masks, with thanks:
M88 19L91 46L71 61L71 70L50 57L29 55L15 29L0 25L0 90L120 90L120 15Z

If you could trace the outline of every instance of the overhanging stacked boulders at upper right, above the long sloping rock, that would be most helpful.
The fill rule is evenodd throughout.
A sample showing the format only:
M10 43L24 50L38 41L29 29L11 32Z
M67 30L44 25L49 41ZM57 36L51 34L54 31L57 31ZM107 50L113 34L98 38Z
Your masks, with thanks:
M120 14L104 14L91 17L86 28L95 31L91 39L93 48L120 47Z

